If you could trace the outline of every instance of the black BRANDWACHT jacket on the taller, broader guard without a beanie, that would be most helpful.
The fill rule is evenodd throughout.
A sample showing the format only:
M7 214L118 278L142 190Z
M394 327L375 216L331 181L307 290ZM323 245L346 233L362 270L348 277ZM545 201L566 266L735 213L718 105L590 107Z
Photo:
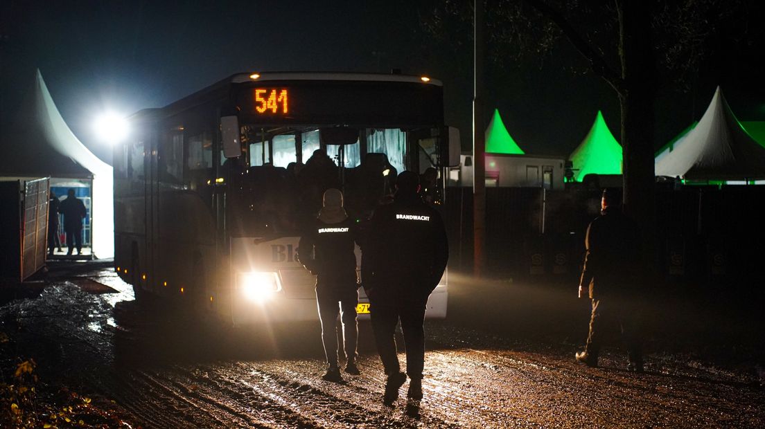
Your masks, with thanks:
M361 280L373 294L427 296L449 258L444 221L417 195L382 205L369 222Z

